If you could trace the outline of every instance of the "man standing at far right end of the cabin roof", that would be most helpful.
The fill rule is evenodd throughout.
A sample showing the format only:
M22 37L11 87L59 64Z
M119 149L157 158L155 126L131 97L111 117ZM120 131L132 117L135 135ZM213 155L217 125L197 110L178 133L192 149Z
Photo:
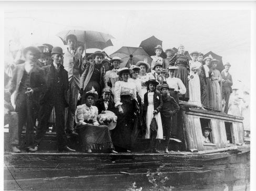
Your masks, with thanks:
M224 105L222 105L223 107L223 112L224 113L228 113L228 105L229 105L229 97L230 94L232 93L232 85L233 85L233 81L232 81L232 76L229 73L229 69L231 67L230 63L227 62L224 65L224 70L221 71L221 77L223 79L222 81L222 99L224 99Z

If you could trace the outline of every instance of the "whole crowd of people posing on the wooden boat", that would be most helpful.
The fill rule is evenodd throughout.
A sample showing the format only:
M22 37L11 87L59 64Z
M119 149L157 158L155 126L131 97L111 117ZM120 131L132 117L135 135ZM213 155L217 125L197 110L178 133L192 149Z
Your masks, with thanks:
M13 152L22 148L25 124L25 148L37 152L52 115L59 151L75 152L68 146L70 134L78 137L81 150L88 153L131 152L137 137L150 140L146 152L159 153L159 140L165 136L168 153L170 137L176 138L180 131L180 100L221 112L223 97L227 113L232 92L230 63L220 73L216 69L219 60L203 59L203 54L193 51L190 61L183 45L175 55L167 49L163 59L158 45L151 65L138 61L130 68L120 68L121 58L110 59L101 51L83 58L84 47L76 46L76 36L68 35L66 41L65 51L50 46L25 48L24 63L14 67L11 79L5 79L5 123L9 124ZM10 99L14 91L15 110Z

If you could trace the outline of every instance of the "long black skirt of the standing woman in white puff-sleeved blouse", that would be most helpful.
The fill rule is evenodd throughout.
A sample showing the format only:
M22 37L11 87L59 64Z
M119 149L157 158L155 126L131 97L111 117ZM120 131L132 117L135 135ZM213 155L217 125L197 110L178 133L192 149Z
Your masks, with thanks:
M121 95L121 107L124 113L116 113L117 125L111 132L113 144L126 150L131 149L131 134L135 122L134 112L136 112L135 102L131 100L130 95Z

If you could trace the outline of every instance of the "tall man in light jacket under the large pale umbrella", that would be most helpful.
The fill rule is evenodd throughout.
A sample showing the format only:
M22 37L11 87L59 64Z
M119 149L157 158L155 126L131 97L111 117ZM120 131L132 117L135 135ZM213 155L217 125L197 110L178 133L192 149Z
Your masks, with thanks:
M66 38L68 45L63 56L63 66L68 72L69 81L69 101L66 119L66 132L71 135L78 135L74 131L74 121L76 104L80 90L80 69L82 65L82 55L76 51L77 38L75 35L68 35Z

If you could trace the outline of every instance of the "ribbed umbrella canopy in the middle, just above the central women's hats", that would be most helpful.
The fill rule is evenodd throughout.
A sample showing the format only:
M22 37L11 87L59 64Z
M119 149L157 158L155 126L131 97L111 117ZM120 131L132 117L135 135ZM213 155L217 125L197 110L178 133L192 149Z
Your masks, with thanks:
M147 52L141 47L123 46L109 56L110 58L118 56L122 59L120 68L130 68L131 65L136 65L138 61L146 61L148 63L152 62L152 58L150 58Z

